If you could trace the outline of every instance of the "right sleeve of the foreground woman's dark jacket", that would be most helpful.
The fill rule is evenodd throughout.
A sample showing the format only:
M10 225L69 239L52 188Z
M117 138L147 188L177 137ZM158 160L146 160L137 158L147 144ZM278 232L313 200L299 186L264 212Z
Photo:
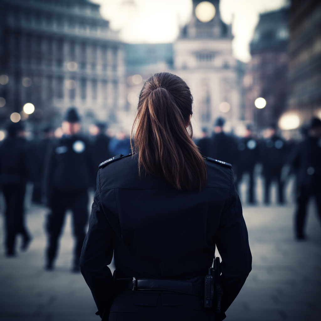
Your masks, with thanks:
M222 320L225 317L224 312L239 294L252 269L247 228L234 184L230 189L228 208L221 215L219 228L215 233L215 243L222 258L222 312L218 317L218 320Z

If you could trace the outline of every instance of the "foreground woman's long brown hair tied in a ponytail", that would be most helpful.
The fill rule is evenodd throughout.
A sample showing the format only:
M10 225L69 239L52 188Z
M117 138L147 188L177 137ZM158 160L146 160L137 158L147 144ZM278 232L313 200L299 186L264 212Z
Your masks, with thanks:
M176 189L202 190L207 173L205 161L192 141L192 103L183 79L170 73L154 74L145 81L139 95L131 148L138 153L139 169L142 165L147 173Z

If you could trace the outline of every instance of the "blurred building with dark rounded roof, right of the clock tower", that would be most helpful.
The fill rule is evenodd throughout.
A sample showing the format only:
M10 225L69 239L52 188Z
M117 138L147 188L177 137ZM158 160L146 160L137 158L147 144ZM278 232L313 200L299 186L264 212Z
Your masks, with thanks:
M252 59L244 76L245 119L259 128L277 124L286 108L289 9L260 14L250 43ZM255 107L256 98L266 106Z

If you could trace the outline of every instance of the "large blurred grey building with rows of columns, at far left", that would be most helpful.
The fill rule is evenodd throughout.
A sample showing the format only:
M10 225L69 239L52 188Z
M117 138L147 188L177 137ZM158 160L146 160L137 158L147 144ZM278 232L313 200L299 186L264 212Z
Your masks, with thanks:
M30 115L35 121L60 121L71 105L87 117L114 122L126 113L123 44L99 5L1 0L0 6L2 120L27 102L36 108Z

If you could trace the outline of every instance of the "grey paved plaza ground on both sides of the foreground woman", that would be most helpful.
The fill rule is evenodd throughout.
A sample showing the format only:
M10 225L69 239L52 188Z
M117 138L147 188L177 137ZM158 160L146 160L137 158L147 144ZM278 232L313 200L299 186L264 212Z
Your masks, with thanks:
M27 197L28 198L28 197ZM244 206L253 269L226 312L236 320L321 320L321 228L313 202L309 206L308 240L293 239L294 205ZM0 320L96 320L96 306L81 274L70 272L73 237L66 218L56 269L44 266L48 210L26 200L26 221L33 240L27 252L4 256L0 215ZM3 213L3 204L0 207Z

